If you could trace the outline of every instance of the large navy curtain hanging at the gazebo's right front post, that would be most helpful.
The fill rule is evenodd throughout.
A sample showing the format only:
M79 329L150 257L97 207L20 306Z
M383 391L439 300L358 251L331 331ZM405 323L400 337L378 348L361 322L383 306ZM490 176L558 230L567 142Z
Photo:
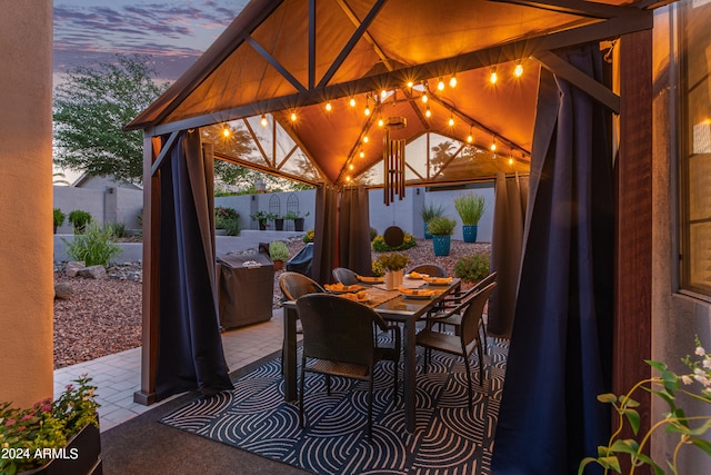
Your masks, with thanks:
M603 81L597 44L559 55ZM607 444L613 310L610 116L542 70L524 250L492 473L571 474ZM592 472L590 472L592 473Z

